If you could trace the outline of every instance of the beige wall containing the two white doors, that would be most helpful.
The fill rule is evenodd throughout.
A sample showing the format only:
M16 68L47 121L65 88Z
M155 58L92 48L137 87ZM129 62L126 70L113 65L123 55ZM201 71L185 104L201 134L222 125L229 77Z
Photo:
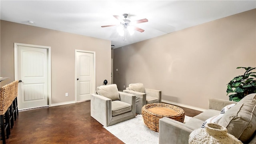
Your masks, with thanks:
M111 82L109 40L1 20L1 77L10 77L2 85L14 80L14 42L51 47L52 104L75 100L75 49L96 52L96 86Z

